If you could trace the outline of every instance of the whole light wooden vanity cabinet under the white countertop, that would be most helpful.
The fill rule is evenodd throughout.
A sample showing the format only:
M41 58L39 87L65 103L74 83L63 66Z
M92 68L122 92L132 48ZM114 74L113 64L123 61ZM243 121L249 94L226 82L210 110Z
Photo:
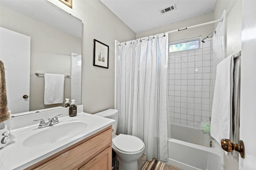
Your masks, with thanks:
M112 125L26 170L111 170Z

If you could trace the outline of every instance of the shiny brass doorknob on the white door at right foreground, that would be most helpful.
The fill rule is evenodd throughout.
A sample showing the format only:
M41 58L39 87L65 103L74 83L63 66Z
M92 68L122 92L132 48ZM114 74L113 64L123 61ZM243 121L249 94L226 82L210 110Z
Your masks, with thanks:
M232 152L233 150L238 151L242 158L245 156L244 142L241 140L239 141L239 144L236 144L232 143L229 139L221 139L221 147L227 152Z

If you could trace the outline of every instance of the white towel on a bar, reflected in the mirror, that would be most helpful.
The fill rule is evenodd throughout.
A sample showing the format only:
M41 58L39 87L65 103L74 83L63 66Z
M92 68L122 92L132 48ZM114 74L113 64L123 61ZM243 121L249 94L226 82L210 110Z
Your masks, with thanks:
M44 104L63 103L64 74L44 74Z

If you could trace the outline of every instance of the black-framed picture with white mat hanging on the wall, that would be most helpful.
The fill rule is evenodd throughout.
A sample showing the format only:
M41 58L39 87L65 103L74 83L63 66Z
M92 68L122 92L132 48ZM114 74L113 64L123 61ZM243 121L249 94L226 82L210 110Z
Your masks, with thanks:
M94 39L93 65L108 68L108 45Z

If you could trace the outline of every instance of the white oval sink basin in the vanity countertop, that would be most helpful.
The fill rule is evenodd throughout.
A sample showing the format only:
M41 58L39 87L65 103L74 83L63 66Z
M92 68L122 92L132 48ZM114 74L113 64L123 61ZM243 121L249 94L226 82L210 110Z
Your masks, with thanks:
M33 129L37 132L28 136L22 144L24 147L51 145L83 134L86 127L87 124L82 121L62 121L49 127Z

